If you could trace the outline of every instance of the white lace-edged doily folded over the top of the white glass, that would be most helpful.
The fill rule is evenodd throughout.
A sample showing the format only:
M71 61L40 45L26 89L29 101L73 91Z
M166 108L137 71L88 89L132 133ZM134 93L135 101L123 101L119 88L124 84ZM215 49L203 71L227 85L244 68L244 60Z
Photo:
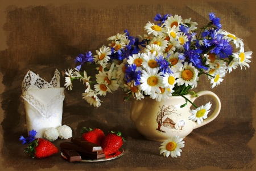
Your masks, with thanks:
M65 98L64 88L60 88L60 72L58 70L55 70L50 83L34 72L28 71L22 82L22 92L21 97L38 110L44 118L53 116L56 107ZM25 106L25 108L29 107Z

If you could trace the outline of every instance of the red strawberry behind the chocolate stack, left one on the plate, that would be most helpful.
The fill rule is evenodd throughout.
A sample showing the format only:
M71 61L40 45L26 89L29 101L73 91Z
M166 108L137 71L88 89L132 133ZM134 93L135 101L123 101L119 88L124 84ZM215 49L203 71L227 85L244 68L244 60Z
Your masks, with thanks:
M91 143L97 144L101 146L101 142L105 137L105 134L100 129L86 129L86 127L83 127L81 130L82 138L85 140L88 140Z

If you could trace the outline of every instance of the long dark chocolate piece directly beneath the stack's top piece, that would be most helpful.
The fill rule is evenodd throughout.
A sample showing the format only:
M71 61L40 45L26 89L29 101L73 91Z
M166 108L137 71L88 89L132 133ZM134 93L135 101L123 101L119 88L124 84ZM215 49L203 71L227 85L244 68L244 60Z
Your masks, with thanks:
M74 149L76 151L80 151L80 152L84 152L84 153L89 153L89 154L92 154L92 155L101 155L103 153L103 151L95 151L95 152L92 152L92 151L89 151L88 149L85 149L75 143L72 143L72 142L63 142L63 143L60 143L60 147L61 148L67 148L67 149Z

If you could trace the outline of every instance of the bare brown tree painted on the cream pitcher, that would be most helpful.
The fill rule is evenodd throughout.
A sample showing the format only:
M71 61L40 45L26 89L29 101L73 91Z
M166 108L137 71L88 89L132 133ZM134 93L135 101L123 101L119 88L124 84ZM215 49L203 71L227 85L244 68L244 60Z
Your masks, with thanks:
M158 116L156 116L156 122L158 122L158 128L156 130L158 131L162 131L162 132L165 132L163 130L161 130L161 126L163 125L163 117L164 116L167 116L167 115L170 115L172 113L176 113L176 108L174 106L159 106L160 110L158 112ZM176 113L177 114L177 113Z

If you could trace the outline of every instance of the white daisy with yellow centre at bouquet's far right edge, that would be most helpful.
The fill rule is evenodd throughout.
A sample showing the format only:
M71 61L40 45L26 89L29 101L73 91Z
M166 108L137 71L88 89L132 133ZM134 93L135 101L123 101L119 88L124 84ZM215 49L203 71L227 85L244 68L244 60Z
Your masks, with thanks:
M244 67L250 67L248 63L250 63L251 61L249 60L251 58L251 54L253 52L249 51L249 52L244 52L243 51L243 48L240 49L239 52L237 53L233 53L233 57L234 58L237 58L238 59L238 62L239 62L239 65L241 66L241 69L242 69L242 66Z

